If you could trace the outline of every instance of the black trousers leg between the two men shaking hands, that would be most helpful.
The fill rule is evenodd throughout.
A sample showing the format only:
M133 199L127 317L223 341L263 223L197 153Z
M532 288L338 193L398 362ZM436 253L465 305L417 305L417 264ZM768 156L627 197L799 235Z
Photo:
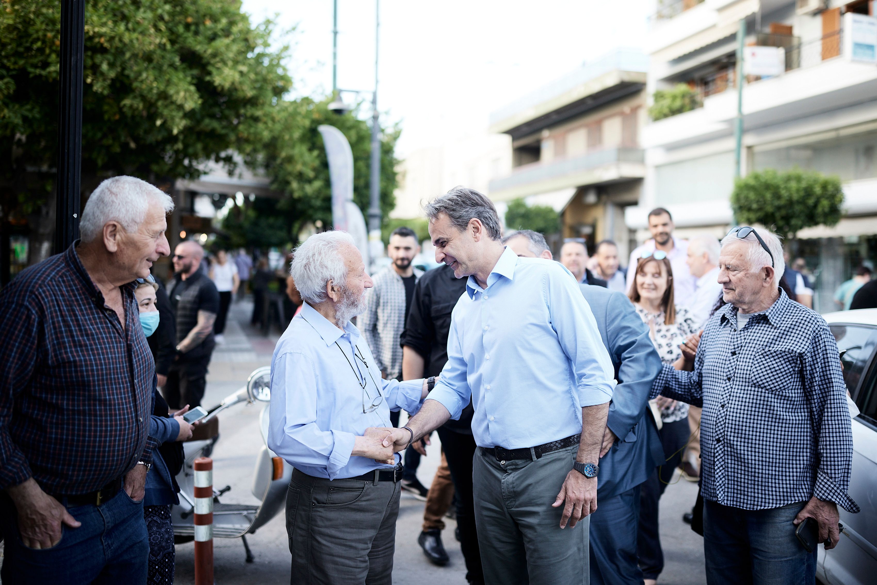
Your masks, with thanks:
M475 439L472 435L453 432L445 427L439 427L438 432L455 490L457 526L460 527L460 549L466 560L466 579L470 583L483 583L484 573L481 570L478 532L475 530L475 504L472 488L472 458L477 448Z

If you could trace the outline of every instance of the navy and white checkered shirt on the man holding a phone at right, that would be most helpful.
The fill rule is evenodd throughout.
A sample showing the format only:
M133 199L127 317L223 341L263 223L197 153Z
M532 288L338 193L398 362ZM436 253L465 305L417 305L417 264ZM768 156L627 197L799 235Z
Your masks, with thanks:
M845 510L852 428L838 346L824 319L786 293L738 331L737 309L709 319L693 372L664 365L652 397L703 407L703 497L766 510L816 496Z

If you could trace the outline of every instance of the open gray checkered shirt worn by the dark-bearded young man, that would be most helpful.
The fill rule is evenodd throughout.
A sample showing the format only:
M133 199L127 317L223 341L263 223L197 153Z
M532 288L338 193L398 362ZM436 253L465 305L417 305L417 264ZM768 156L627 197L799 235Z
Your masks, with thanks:
M417 280L422 270L414 269ZM372 278L374 287L366 290L366 311L357 325L371 348L381 372L391 380L402 374L402 346L399 336L405 326L405 284L392 266Z

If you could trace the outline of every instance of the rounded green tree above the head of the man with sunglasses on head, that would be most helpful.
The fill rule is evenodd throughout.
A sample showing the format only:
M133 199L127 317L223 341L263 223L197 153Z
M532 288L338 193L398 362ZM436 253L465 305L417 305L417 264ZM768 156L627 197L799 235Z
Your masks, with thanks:
M837 225L844 190L837 176L794 168L753 171L734 182L731 208L743 224L761 224L785 239L814 225Z

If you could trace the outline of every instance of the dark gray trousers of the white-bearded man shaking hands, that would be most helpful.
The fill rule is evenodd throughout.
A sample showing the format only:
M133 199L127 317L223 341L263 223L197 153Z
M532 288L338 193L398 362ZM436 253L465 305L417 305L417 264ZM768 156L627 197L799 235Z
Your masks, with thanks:
M389 585L400 483L333 480L297 469L286 496L294 585Z

